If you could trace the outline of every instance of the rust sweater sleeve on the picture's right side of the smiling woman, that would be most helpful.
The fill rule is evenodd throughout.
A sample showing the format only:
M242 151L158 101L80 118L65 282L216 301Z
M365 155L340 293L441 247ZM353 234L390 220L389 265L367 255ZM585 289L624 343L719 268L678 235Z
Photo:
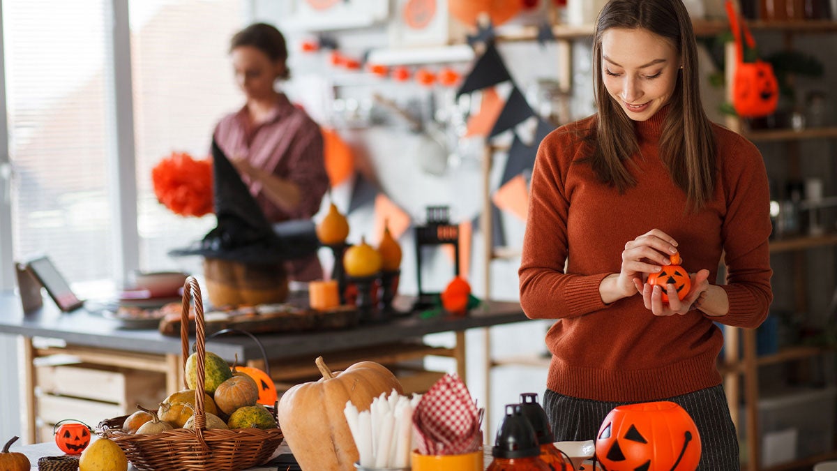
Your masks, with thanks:
M727 215L721 225L727 284L721 287L729 298L729 313L711 319L755 329L767 318L773 301L770 190L761 153L751 142L736 137L732 152L721 162L727 199Z

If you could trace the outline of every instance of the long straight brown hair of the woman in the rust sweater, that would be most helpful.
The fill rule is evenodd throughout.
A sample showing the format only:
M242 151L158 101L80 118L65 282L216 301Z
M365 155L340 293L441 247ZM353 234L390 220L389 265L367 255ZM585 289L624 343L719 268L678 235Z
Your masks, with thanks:
M602 35L608 28L646 29L669 40L680 53L683 69L663 124L660 158L692 208L703 207L715 191L716 147L701 103L695 34L681 0L611 0L599 13L593 40L593 88L598 107L592 136L595 151L589 159L593 171L620 193L636 183L626 166L639 152L634 124L602 80Z

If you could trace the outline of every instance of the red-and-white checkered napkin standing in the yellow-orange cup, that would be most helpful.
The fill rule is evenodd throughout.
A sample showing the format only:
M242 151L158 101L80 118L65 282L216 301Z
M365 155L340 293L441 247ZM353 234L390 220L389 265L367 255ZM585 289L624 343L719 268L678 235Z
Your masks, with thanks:
M458 376L444 375L422 396L413 412L419 453L475 452L482 445L482 412Z

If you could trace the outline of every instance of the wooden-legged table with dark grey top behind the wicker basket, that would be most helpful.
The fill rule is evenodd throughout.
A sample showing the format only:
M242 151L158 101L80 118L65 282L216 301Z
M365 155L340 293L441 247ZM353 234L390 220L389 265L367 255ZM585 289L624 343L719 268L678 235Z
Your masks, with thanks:
M399 300L403 308L409 299ZM385 323L361 324L352 329L311 331L286 334L259 334L258 338L274 365L271 375L275 380L293 377L305 368L313 369L313 360L324 355L335 370L357 360L379 363L424 355L444 355L456 360L457 372L465 375L465 330L484 328L503 323L525 321L520 304L516 302L483 303L465 317L421 318L409 315ZM434 347L422 343L422 336L439 332L454 332L452 348ZM121 329L116 320L77 309L60 313L47 300L44 307L23 313L19 299L11 293L0 294L0 333L22 336L21 367L25 385L27 420L24 441L35 443L35 386L36 358L69 354L85 363L109 365L134 370L157 371L166 375L166 390L182 389L181 341L167 337L155 329ZM33 344L33 338L59 339L61 345L44 347ZM207 349L232 363L259 366L263 364L259 348L248 337L223 336L207 341ZM281 368L276 366L280 365ZM107 418L107 417L102 417Z

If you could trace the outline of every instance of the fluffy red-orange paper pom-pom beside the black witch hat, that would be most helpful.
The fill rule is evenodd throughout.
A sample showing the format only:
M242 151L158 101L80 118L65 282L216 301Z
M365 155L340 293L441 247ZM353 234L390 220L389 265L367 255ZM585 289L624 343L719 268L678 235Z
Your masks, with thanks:
M213 212L213 165L187 153L172 152L151 170L157 201L182 216Z

